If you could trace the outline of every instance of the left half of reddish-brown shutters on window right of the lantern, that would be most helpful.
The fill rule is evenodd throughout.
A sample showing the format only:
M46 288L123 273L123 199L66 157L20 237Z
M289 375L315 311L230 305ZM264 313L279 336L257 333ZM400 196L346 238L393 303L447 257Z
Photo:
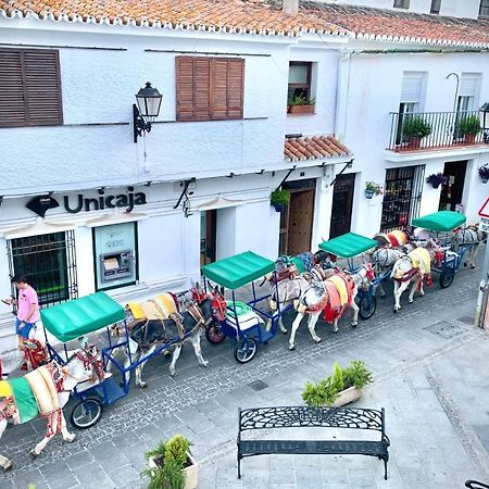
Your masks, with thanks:
M209 121L210 60L176 58L177 121Z

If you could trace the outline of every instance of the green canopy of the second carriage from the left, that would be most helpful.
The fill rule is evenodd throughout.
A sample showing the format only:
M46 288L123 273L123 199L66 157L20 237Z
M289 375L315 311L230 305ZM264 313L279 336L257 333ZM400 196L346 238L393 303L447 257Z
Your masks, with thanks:
M228 289L237 289L275 269L272 260L252 251L236 254L202 267L202 274Z

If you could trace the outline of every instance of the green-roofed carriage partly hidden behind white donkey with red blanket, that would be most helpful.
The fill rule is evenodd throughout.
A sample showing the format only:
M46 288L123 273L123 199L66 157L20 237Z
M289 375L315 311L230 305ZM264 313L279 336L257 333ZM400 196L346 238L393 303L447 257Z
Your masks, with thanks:
M319 249L347 261L346 271L355 274L360 267L355 263L355 258L362 256L368 250L377 247L377 241L355 233L347 233L336 238L324 241ZM375 286L383 280L384 276L375 277L373 280L364 280L358 288L355 302L359 306L359 315L362 319L371 318L377 308L375 297Z

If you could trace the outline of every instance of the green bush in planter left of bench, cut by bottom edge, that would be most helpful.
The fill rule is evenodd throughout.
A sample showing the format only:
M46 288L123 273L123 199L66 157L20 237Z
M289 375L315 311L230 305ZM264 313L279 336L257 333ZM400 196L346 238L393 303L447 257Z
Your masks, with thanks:
M184 489L187 452L190 441L181 435L175 435L167 441L161 441L156 448L145 453L146 460L155 457L158 468L147 468L141 476L149 477L148 489Z

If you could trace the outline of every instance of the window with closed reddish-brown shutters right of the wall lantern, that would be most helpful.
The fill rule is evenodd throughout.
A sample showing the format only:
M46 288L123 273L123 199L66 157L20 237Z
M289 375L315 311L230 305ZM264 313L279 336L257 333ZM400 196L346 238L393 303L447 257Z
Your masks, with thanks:
M242 118L244 60L176 58L177 121Z

